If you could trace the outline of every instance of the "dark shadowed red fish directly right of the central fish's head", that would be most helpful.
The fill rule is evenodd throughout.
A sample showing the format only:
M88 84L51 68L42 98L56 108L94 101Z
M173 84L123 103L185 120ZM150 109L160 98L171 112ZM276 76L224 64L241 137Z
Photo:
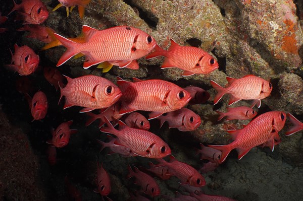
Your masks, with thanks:
M199 87L188 86L183 89L190 93L191 99L188 102L190 105L205 103L211 96L206 90Z

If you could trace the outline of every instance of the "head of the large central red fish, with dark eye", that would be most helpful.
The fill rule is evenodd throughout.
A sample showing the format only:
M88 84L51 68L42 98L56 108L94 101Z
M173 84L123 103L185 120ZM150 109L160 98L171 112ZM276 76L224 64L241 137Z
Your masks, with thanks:
M171 91L166 93L166 102L172 110L184 107L190 99L190 93L180 87L174 87Z

